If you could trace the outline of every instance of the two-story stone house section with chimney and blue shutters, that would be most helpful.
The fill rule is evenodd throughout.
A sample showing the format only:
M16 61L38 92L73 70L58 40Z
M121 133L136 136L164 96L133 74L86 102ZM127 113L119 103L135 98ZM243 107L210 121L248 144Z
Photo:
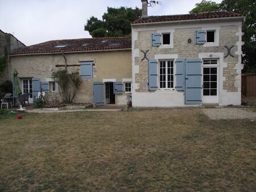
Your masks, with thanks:
M241 105L242 24L228 11L143 16L132 26L134 107Z

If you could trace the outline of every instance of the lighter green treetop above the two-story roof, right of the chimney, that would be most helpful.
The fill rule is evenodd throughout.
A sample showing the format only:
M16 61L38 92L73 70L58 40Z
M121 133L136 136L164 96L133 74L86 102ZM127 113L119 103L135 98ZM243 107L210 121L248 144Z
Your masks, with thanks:
M196 7L189 11L189 13L199 13L205 11L218 11L220 5L213 1L202 0L201 3L196 3Z

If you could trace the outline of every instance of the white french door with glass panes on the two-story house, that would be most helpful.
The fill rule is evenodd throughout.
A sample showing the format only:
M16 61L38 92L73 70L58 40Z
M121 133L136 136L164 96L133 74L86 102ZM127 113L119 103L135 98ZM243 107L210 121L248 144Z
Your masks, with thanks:
M202 103L218 103L219 64L217 59L203 59Z

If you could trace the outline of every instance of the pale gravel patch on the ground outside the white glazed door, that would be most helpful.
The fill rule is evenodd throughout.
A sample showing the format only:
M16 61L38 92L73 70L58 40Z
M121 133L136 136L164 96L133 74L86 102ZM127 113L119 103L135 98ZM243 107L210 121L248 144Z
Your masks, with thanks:
M245 108L202 108L210 119L256 119L256 112Z

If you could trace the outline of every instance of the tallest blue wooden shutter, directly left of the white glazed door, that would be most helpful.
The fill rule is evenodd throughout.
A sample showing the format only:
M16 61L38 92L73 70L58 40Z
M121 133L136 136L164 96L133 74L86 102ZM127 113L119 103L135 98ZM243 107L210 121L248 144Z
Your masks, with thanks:
M186 59L185 104L201 104L201 59Z

